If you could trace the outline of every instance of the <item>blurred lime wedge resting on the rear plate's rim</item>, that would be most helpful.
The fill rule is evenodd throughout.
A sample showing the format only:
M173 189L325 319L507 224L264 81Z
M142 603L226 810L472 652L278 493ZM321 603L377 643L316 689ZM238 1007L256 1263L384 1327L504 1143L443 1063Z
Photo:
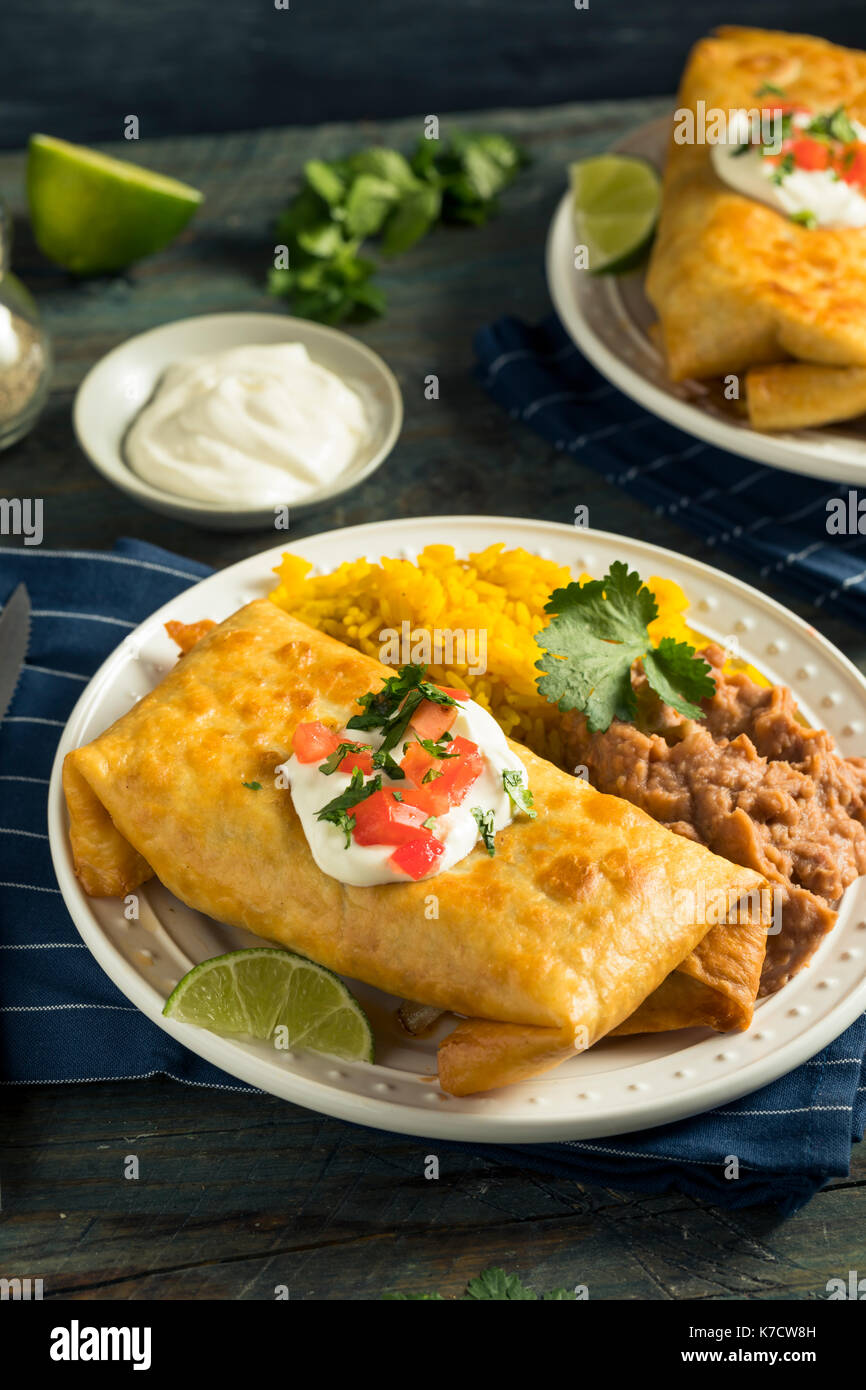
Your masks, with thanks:
M574 234L592 275L638 265L659 217L662 183L652 164L631 154L599 154L569 168Z

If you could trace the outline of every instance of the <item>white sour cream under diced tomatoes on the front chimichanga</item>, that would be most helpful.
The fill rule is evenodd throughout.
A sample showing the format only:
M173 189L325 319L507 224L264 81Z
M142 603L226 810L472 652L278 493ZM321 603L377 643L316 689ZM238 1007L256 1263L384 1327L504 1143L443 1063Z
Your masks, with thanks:
M443 842L445 853L425 876L428 878L446 869L453 869L474 849L480 838L478 823L473 816L474 806L493 812L495 831L510 826L513 803L505 790L503 771L518 771L524 785L528 783L527 770L509 748L499 724L475 701L460 702L450 734L455 738L461 734L478 745L484 756L484 770L459 806L452 806L445 816L436 816L434 834L436 840ZM382 735L378 733L350 730L345 737L357 744L368 744L373 749L379 748L382 742ZM413 738L414 735L409 730L403 742L411 742ZM402 744L399 749L395 749L398 758ZM293 753L277 771L282 773L289 784L292 803L303 826L313 859L321 872L357 888L367 888L377 883L409 883L406 874L388 862L395 845L359 845L354 837L346 845L346 837L338 826L316 819L316 813L331 798L346 791L350 781L350 774L342 773L339 767L329 777L325 777L320 771L320 763L302 763ZM405 791L410 785L406 781L395 781L385 773L381 777L384 788Z

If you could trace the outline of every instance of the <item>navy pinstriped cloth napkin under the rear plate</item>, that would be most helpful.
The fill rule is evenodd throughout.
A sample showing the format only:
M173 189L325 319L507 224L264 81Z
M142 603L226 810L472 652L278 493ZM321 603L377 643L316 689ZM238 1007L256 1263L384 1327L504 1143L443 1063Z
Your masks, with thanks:
M612 386L555 314L535 327L500 318L477 334L475 354L485 391L555 448L819 607L866 617L866 535L827 532L827 502L848 506L849 484L767 468L683 434Z

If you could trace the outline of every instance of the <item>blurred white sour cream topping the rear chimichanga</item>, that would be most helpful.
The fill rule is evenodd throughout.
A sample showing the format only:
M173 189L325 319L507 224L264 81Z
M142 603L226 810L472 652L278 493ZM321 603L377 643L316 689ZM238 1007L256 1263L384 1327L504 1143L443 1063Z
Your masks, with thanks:
M796 138L812 122L809 111L791 115L792 136ZM866 140L866 126L851 121L858 140ZM737 193L753 197L788 217L808 218L810 227L866 227L866 196L862 185L840 177L835 168L803 168L794 152L785 157L784 145L777 156L762 153L762 146L751 142L749 113L734 111L727 126L727 140L712 150L713 168L720 179ZM748 145L748 150L742 146ZM766 152L769 146L763 146Z

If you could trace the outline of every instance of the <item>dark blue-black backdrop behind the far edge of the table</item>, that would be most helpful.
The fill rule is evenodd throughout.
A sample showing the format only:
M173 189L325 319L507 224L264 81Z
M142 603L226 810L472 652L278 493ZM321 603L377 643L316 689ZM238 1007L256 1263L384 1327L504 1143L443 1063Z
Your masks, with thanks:
M717 24L866 44L863 0L0 0L0 146L673 92Z

